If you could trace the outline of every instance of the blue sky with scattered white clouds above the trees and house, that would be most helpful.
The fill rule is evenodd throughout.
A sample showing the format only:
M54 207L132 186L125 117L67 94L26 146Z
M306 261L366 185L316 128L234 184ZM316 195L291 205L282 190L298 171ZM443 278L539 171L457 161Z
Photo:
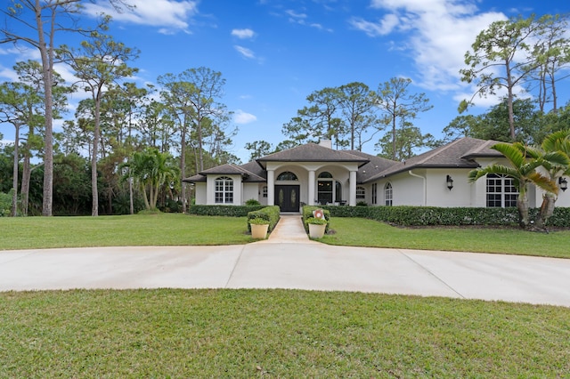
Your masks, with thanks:
M459 102L474 93L460 82L459 70L479 31L518 14L570 12L559 0L131 1L134 12L112 12L100 0L85 2L85 11L110 12L110 34L141 51L132 63L140 69L133 78L138 85L185 69L220 71L226 80L221 101L239 128L231 152L244 163L248 141L285 139L281 126L307 105L308 94L351 82L376 90L391 77L410 77L411 93L426 93L434 106L414 125L440 138L458 116ZM13 80L14 63L29 58L37 52L0 45L0 81ZM69 69L56 70L73 81ZM72 105L81 96L74 95ZM478 101L471 112L495 102ZM0 133L10 141L12 126L0 125ZM374 141L363 150L378 153Z

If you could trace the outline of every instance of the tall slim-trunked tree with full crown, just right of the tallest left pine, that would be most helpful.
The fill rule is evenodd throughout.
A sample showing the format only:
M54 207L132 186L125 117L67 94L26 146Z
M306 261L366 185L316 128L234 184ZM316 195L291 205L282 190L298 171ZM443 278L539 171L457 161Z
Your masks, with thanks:
M104 26L106 27L106 24ZM128 60L137 58L138 50L114 41L112 36L93 31L90 33L89 40L81 43L81 48L62 45L57 52L58 56L74 70L76 77L85 84L85 91L91 93L94 101L94 138L91 152L93 209L91 214L97 216L99 215L97 155L101 136L102 96L111 85L117 85L119 80L130 77L138 71L126 64Z

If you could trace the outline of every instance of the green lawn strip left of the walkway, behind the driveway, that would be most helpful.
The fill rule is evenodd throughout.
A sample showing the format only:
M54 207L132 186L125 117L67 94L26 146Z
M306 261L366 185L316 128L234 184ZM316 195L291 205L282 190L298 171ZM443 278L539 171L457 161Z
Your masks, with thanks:
M0 250L90 246L239 245L253 241L245 217L135 214L0 217Z

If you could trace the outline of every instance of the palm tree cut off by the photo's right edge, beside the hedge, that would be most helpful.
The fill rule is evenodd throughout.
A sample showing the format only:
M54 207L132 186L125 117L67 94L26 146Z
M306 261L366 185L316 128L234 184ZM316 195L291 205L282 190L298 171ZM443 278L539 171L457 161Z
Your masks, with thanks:
M570 175L570 130L551 133L542 141L540 148L528 149L533 159L542 160L542 167L555 183L563 175ZM558 193L558 192L557 192ZM536 219L536 227L543 229L554 213L557 193L547 191L542 196L542 206Z

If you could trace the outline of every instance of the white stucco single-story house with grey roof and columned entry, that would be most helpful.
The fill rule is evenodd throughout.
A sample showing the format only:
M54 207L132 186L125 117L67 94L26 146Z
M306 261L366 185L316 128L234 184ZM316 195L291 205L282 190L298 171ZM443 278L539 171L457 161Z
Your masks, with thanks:
M405 162L354 150L330 149L330 141L309 143L260 157L245 165L219 165L184 179L195 186L198 205L244 205L256 199L299 212L306 205L355 206L516 206L508 177L488 175L468 182L477 167L507 160L496 141L460 138ZM564 178L567 180L568 178ZM564 186L562 186L564 187ZM530 206L540 206L542 191L529 189ZM557 206L570 206L570 190Z

